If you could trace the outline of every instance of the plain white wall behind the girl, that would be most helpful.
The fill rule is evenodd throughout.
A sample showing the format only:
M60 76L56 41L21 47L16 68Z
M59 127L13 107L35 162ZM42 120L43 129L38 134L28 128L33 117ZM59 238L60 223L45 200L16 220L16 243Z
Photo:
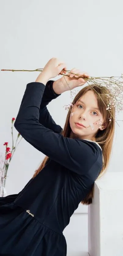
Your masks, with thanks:
M1 1L0 69L43 68L51 57L77 67L91 76L120 76L123 73L123 3L117 1ZM28 82L39 72L0 72L0 152L3 143L12 146L11 119L16 118ZM58 76L56 79L59 79ZM77 88L81 89L81 88ZM50 114L62 127L70 103L70 92L48 105ZM123 113L118 116L123 119ZM116 124L109 171L123 171L123 122ZM14 139L17 131L14 128ZM24 139L8 170L6 190L18 193L45 157ZM79 205L76 213L86 212Z

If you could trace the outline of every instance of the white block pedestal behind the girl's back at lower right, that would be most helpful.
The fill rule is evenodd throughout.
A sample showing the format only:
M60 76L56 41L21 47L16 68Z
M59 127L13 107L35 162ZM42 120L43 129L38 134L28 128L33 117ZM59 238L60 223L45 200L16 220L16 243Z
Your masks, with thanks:
M123 255L123 172L107 172L94 185L88 206L90 256Z

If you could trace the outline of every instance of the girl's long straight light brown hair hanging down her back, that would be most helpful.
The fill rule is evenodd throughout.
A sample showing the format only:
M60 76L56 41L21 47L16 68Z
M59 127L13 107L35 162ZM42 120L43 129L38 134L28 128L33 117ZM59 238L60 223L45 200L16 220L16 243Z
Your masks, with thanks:
M83 96L89 90L92 90L95 93L99 111L103 115L104 123L107 123L107 127L104 130L99 129L95 135L95 141L98 142L98 144L102 148L102 153L103 153L103 168L99 176L97 177L97 179L99 179L100 177L102 177L102 175L106 171L110 161L110 155L112 151L113 138L114 138L114 128L115 128L115 108L112 108L111 110L106 110L107 104L108 104L108 98L106 94L109 94L109 90L104 86L99 88L96 84L91 84L82 88L78 92L78 94L75 96L72 104L75 104L81 98L81 96ZM64 128L61 131L61 134L63 135L63 137L70 137L71 127L70 127L69 119L70 119L71 109L72 109L72 106L70 106L69 108ZM111 121L109 121L110 117L111 117ZM35 171L33 178L44 168L48 159L49 157L45 156L41 165ZM81 203L85 205L91 204L93 195L94 195L94 184L92 186L91 191L81 201Z

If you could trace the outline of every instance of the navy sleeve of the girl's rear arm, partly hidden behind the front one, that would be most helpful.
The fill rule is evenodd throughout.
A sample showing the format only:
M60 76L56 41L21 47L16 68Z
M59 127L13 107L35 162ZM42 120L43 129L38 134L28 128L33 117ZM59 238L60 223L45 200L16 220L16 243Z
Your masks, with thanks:
M39 112L39 123L41 123L43 126L51 129L52 131L56 133L60 133L62 131L62 127L60 125L57 125L55 121L52 119L52 116L50 115L47 105L50 101L53 99L56 99L61 94L56 94L52 88L53 80L49 80L46 83L45 90L42 96L42 101L40 104L40 112Z

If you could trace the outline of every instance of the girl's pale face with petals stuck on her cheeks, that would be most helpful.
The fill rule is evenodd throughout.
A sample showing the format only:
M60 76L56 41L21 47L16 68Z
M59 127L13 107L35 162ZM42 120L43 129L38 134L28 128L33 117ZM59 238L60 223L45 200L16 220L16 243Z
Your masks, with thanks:
M98 109L96 96L93 91L89 90L71 109L69 120L71 126L70 138L95 140L97 131L104 129L100 121L103 124L103 116ZM80 123L85 127L78 126L76 123Z

